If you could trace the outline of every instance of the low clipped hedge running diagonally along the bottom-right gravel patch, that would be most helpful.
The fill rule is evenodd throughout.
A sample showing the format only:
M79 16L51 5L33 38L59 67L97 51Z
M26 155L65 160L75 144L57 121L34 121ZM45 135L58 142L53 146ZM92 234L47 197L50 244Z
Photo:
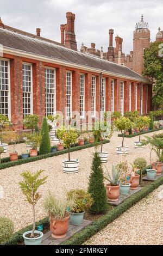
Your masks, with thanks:
M95 235L97 232L106 227L109 223L114 221L123 212L127 211L131 206L139 202L142 198L148 196L155 188L158 188L163 184L163 177L152 182L151 184L142 188L141 191L133 194L130 198L123 201L122 204L116 206L114 209L108 212L108 214L102 216L98 220L94 221L91 225L87 226L85 229L75 234L69 240L62 242L61 245L82 245L86 240L90 239L91 236Z

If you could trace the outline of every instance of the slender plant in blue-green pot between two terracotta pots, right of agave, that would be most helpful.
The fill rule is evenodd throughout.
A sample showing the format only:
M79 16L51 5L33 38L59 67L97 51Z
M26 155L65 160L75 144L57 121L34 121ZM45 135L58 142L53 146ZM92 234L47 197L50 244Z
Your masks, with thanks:
M129 183L129 168L128 168L128 163L126 160L123 162L119 163L118 168L122 170L121 178L120 178L120 193L121 194L128 194L130 190L131 184Z

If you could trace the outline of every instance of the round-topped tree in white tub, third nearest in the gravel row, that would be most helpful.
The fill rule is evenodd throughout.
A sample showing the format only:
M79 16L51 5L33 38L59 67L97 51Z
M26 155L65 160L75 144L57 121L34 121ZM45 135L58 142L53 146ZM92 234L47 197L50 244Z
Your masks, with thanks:
M124 133L126 130L130 129L132 126L131 121L129 118L121 117L114 121L115 126L119 131L122 133L122 145L117 146L117 155L128 155L129 154L129 147L124 146Z

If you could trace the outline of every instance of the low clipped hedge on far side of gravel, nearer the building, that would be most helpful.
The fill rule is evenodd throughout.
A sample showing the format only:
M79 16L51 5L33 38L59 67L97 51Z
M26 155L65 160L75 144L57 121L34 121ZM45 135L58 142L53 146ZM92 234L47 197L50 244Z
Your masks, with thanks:
M103 141L103 144L109 143L110 141L108 139L105 139ZM101 144L101 142L97 142L97 145ZM87 144L87 145L83 145L83 146L76 146L70 149L70 152L73 151L78 151L81 149L86 149L86 148L91 148L94 147L94 144ZM9 168L9 167L13 167L13 166L18 166L20 164L23 163L30 163L30 162L35 162L38 160L42 160L42 159L46 159L48 157L53 157L53 156L58 156L58 155L63 155L68 153L68 149L64 149L61 151L57 151L57 152L53 152L53 153L48 153L45 155L38 155L38 156L34 156L34 157L28 157L26 159L22 159L21 155L18 156L18 160L14 161L14 162L10 162L10 157L4 157L1 160L1 165L0 165L0 170L5 169L5 168Z

